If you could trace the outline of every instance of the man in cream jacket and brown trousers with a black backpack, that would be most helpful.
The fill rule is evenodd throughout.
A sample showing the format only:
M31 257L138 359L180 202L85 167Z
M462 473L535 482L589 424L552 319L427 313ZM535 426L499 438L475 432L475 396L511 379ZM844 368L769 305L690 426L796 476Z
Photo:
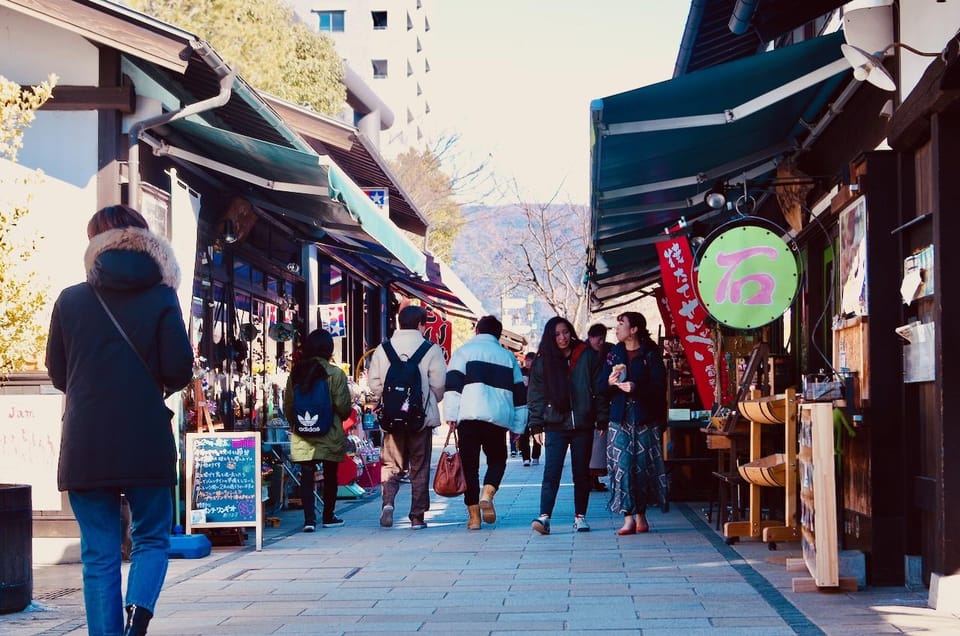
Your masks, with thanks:
M380 508L380 525L393 526L397 490L401 474L406 468L410 479L410 527L419 530L426 527L424 515L430 509L430 453L431 438L440 426L438 403L443 399L447 365L443 350L423 337L427 326L427 311L423 307L408 305L397 314L398 329L389 341L380 343L370 360L367 383L374 399L380 399L381 427L385 426L384 406L387 395L393 388L385 386L392 364L386 347L397 355L398 361L410 361L417 355L422 358L416 364L420 377L419 405L404 402L407 413L411 410L422 418L418 424L398 425L393 431L384 429L382 460L383 502ZM426 344L425 344L426 343Z

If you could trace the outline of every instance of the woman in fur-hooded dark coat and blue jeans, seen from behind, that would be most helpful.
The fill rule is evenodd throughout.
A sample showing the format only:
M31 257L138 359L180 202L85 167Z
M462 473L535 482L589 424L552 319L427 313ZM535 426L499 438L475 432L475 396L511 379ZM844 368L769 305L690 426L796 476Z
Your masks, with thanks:
M173 521L177 451L164 399L190 382L193 350L173 250L143 216L127 206L103 208L87 237L87 282L60 293L47 340L47 370L66 394L57 481L80 525L87 630L145 634ZM133 533L124 603L121 493Z

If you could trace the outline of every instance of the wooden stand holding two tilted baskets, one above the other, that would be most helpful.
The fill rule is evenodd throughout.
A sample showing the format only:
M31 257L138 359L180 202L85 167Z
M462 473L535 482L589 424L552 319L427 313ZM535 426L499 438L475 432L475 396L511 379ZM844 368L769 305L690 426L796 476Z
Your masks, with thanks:
M760 397L759 391L751 391L750 399L738 402L741 415L750 420L749 463L740 466L740 475L749 484L748 515L745 521L728 521L723 525L723 535L728 543L741 537L760 538L776 549L778 541L800 539L797 525L797 398L794 389L773 397ZM785 452L761 457L763 427L784 427ZM784 521L760 518L760 489L784 488Z

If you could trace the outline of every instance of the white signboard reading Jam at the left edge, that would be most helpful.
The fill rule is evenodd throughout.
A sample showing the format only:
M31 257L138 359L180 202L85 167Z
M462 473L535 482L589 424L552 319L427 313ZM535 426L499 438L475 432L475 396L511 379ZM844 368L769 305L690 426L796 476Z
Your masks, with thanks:
M60 510L63 394L0 395L0 482L29 484L34 510Z

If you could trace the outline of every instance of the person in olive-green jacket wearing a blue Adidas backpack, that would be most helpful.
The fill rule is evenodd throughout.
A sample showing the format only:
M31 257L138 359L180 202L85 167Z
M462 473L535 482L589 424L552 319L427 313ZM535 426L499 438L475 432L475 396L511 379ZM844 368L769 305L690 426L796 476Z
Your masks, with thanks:
M317 513L314 476L317 462L323 465L323 527L334 528L343 525L343 519L334 514L337 506L337 466L346 453L346 436L343 432L343 420L350 417L353 400L347 388L347 375L340 367L334 366L333 337L325 329L315 329L303 340L300 350L295 354L293 369L287 379L287 390L283 396L283 414L290 423L290 459L300 465L300 502L303 505L303 531L313 532L317 528ZM293 432L297 420L297 408L294 395L299 389L301 395L308 395L314 385L326 379L333 406L333 424L319 436L302 436ZM316 417L316 413L313 414Z

